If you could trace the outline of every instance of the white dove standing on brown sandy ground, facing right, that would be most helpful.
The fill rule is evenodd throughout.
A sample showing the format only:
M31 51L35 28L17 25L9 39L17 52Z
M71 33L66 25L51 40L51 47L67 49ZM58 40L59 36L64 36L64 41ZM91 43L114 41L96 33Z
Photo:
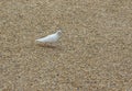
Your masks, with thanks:
M59 31L57 31L54 34L51 34L51 35L47 35L45 37L36 39L36 42L41 42L41 43L55 43L55 42L58 41L61 35L62 35L62 31L59 30Z

